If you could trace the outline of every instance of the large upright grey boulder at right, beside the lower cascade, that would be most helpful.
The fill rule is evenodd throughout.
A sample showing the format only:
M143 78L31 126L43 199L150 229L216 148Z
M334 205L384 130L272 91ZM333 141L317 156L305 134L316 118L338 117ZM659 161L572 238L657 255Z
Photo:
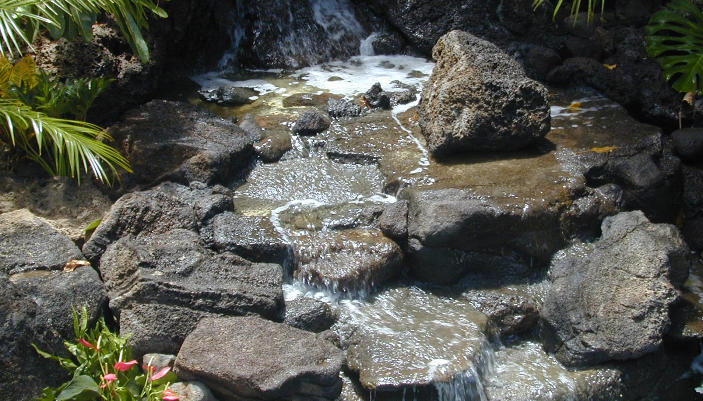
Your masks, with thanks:
M657 350L689 267L688 246L672 225L652 224L640 211L606 218L598 242L572 246L550 270L541 310L546 350L567 366Z

